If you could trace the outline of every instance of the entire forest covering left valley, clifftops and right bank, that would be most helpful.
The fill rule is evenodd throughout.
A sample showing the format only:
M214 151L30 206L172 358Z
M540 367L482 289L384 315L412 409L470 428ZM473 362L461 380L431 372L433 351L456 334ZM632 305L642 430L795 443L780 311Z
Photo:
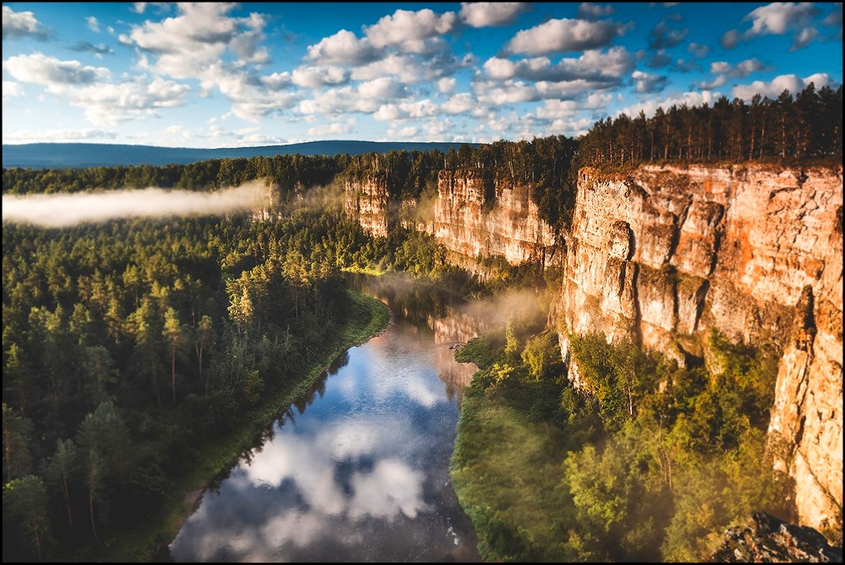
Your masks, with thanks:
M498 276L482 281L450 266L425 233L396 228L373 239L342 213L346 180L384 178L392 197L420 199L432 195L439 171L472 167L489 198L497 181L528 184L542 217L561 232L583 165L841 159L841 128L842 88L810 85L794 99L785 92L750 105L722 99L648 119L607 118L580 140L164 167L4 168L3 195L215 191L263 179L278 212L62 229L3 222L4 560L102 559L113 535L156 519L179 481L221 436L243 428L243 414L268 391L295 387L338 347L332 337L347 321L366 318L367 326L367 309L346 293L345 270L411 272L461 293L519 283L551 292L558 284L553 272L533 266L499 266ZM499 495L467 487L461 502L484 557L695 560L700 540L727 516L760 500L776 505L779 485L747 478L762 457L770 351L713 335L732 369L711 376L586 336L573 344L581 365L592 368L585 396L561 380L551 336L542 326L509 327L463 352L482 372L466 396L453 465L485 461L486 449L504 445L460 441L472 414L504 410L510 415L501 421L527 426L521 429L533 439L523 445L537 448L510 464L554 469L543 480L555 484L539 487L553 493L544 502L554 503L549 516L560 514L542 524L544 513L519 504L510 514L486 514L481 502ZM659 390L660 381L678 384ZM463 466L470 485L479 470ZM459 476L459 491L460 483ZM732 489L743 495L732 499ZM532 493L526 501L537 500ZM150 546L135 557L150 559Z

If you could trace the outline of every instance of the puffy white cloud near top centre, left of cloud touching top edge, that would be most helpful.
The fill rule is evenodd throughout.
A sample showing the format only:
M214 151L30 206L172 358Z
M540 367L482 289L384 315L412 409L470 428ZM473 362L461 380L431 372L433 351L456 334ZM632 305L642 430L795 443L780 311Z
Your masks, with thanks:
M399 9L365 27L364 33L374 47L397 46L408 52L428 52L424 41L449 33L457 21L454 12L435 14L428 8L417 12Z

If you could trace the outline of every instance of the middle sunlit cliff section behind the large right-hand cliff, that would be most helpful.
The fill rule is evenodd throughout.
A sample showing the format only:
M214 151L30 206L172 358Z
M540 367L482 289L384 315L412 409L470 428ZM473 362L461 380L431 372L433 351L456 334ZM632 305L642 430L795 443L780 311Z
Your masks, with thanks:
M433 234L466 257L501 255L513 265L551 261L554 236L529 197L529 187L493 184L488 202L484 179L472 169L440 171L434 203Z

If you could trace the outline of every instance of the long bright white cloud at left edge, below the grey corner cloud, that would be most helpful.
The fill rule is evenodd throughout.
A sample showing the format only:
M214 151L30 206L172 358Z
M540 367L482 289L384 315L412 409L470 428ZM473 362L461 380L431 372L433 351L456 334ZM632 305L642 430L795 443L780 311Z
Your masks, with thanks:
M105 67L83 66L79 61L60 61L39 52L10 57L3 61L3 69L21 82L53 88L64 85L90 85L107 80L112 74Z

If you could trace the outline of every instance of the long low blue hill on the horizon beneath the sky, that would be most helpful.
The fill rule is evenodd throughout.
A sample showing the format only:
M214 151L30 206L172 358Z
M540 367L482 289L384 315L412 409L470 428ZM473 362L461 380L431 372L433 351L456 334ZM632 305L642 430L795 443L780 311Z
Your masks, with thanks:
M308 141L291 145L264 145L262 147L232 147L220 149L191 149L188 147L156 147L155 145L112 145L107 143L27 143L3 145L4 168L85 168L117 167L128 165L188 164L226 157L253 157L275 155L360 155L376 151L447 152L461 143L413 141ZM478 145L475 143L467 145Z

